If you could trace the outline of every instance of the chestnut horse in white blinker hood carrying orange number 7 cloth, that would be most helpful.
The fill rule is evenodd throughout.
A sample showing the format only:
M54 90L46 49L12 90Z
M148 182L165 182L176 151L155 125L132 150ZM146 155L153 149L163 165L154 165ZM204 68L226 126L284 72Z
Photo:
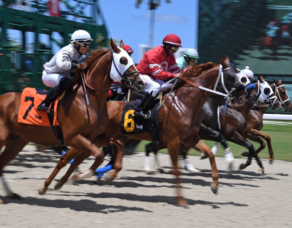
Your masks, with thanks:
M108 123L106 98L113 79L122 81L135 91L144 88L133 60L111 39L112 50L92 51L81 69L84 81L87 83L87 93L90 105L85 104L85 93L82 89L80 71L75 71L77 83L66 91L64 98L58 103L57 120L64 134L64 143L71 146L73 153L89 152L101 164L103 152L99 149L109 142L115 144L118 153L123 154L123 142L118 138L105 134ZM89 86L90 85L90 86ZM93 88L92 88L93 87ZM17 122L21 93L10 92L0 97L0 149L5 150L0 155L0 178L10 198L19 198L6 184L2 170L28 142L45 146L59 146L52 129L46 126L34 126ZM87 154L87 153L86 153ZM116 172L119 167L116 166Z

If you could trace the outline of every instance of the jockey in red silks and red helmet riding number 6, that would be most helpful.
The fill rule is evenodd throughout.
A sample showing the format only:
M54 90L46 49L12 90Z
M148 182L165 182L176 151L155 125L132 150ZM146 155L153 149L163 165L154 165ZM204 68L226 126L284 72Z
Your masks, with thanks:
M147 82L144 91L147 92L140 105L134 112L134 115L144 119L150 117L147 108L152 99L155 99L158 92L171 85L162 85L162 80L179 77L180 68L176 64L174 53L182 47L181 40L174 34L169 34L162 41L163 46L155 47L144 54L137 65L137 70L141 73L143 79ZM169 72L170 71L170 72Z

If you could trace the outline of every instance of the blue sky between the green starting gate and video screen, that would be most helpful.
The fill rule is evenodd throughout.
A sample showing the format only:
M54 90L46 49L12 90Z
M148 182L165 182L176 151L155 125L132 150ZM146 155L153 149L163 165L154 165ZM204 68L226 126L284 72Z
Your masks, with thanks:
M150 10L148 0L139 8L136 0L99 0L109 37L123 40L134 50L132 58L138 60L138 44L148 44ZM173 33L182 40L182 47L197 48L199 0L171 0L155 10L153 46L161 45L163 38Z

